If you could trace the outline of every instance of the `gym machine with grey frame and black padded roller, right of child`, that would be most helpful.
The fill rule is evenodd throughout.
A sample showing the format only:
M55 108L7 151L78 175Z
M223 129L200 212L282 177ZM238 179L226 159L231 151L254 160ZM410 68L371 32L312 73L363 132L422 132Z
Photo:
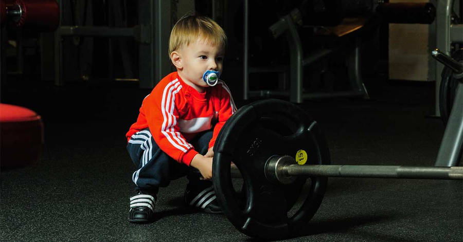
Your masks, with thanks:
M320 8L318 5L324 5ZM453 6L453 1L447 3L447 7ZM441 18L442 3L438 3L437 17ZM318 7L317 7L318 6ZM330 93L310 93L304 92L302 87L304 66L323 58L333 50L319 49L310 53L307 57L303 56L302 43L297 28L302 25L311 26L334 26L340 24L344 17L355 15L378 16L382 22L387 23L417 23L431 24L436 17L436 8L431 3L385 3L385 1L302 1L300 6L294 8L287 15L280 18L278 22L270 26L269 31L274 38L286 35L290 48L289 63L289 91L287 90L257 90L251 91L249 88L249 49L248 49L248 1L244 1L244 53L243 53L243 97L248 99L252 96L289 96L291 102L301 103L304 99L326 98L326 97L368 97L368 92L363 84L360 72L360 45L361 38L355 40L355 47L350 59L347 62L349 69L349 79L351 90ZM439 24L440 22L438 22ZM359 26L361 28L362 25ZM357 29L359 29L357 28ZM357 30L355 29L355 30ZM455 33L458 27L453 26ZM437 36L439 38L439 34ZM439 41L438 41L439 42ZM439 47L439 44L438 44ZM440 73L440 71L439 71Z

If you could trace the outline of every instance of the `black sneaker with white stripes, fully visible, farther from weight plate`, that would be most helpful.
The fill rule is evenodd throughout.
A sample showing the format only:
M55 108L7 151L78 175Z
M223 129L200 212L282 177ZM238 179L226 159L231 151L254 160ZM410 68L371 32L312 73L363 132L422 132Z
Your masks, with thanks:
M143 193L140 190L130 197L129 222L151 222L154 218L156 195Z

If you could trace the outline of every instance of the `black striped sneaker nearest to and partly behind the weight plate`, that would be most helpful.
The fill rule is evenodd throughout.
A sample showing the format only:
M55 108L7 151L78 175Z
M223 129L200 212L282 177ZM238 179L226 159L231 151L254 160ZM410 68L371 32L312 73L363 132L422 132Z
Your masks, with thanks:
M210 181L189 182L185 190L185 203L205 213L223 213Z

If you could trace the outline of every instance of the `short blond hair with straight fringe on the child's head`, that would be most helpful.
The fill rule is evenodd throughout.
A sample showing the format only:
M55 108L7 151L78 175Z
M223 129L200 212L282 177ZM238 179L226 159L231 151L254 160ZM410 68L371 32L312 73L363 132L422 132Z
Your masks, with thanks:
M180 18L170 32L169 54L201 39L225 48L227 36L215 21L205 16L187 15Z

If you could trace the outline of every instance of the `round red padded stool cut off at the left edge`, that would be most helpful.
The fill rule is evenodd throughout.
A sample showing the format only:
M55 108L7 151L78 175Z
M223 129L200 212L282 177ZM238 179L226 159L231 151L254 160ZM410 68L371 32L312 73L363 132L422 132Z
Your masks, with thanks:
M0 165L25 166L40 157L43 123L39 115L25 107L0 103Z

